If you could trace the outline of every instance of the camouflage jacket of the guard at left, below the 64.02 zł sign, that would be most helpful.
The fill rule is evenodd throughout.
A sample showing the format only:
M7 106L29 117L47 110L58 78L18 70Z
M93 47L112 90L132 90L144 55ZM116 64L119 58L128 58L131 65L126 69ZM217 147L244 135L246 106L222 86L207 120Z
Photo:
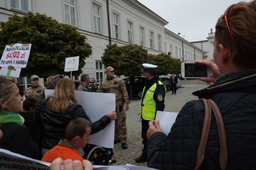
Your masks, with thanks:
M45 86L38 85L36 88L30 86L24 91L25 97L34 97L38 100L45 99L44 95Z

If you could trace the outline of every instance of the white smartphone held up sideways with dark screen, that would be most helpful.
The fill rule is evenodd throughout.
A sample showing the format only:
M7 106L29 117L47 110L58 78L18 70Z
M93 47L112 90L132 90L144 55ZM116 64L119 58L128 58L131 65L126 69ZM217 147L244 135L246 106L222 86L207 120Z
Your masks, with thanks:
M205 64L198 64L194 62L183 62L181 63L181 76L183 78L210 77L211 70Z

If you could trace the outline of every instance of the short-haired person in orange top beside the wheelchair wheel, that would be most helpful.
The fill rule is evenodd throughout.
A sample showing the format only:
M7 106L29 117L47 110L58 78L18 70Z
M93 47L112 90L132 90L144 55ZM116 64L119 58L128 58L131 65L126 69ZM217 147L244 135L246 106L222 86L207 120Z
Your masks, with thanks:
M60 140L59 144L46 152L42 161L53 162L56 158L63 160L80 160L83 158L79 155L78 148L83 148L91 139L91 124L85 118L74 118L65 128L65 139Z

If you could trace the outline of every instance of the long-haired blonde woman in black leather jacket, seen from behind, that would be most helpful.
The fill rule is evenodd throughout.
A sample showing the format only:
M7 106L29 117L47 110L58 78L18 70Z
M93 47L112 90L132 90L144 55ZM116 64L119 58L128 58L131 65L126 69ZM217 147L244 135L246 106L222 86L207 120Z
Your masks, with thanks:
M75 98L75 83L69 78L59 80L54 95L39 102L35 112L41 124L43 155L64 139L65 127L70 120L81 117L91 122ZM114 119L116 112L112 111L91 123L91 134L104 129Z

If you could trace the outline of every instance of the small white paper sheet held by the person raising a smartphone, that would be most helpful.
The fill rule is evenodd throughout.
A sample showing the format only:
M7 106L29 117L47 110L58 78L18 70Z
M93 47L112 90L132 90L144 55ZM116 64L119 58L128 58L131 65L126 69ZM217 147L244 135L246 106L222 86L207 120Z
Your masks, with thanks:
M156 112L156 120L159 120L159 126L163 130L163 133L168 135L171 131L178 113L176 112Z

